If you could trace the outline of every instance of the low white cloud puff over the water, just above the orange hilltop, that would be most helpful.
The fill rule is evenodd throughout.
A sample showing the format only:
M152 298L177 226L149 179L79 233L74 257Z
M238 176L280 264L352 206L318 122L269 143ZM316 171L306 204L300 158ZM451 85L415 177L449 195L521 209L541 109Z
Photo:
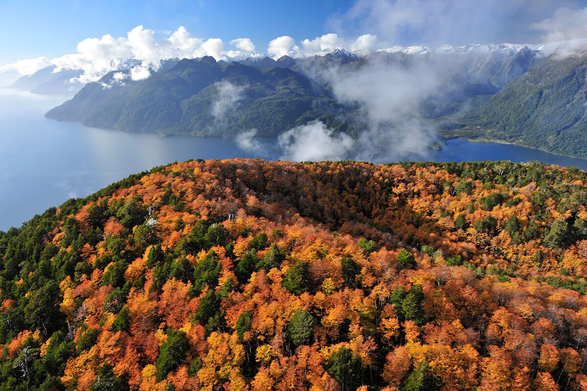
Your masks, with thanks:
M321 121L314 121L282 133L278 144L284 159L302 162L344 159L355 141L344 133L335 134Z

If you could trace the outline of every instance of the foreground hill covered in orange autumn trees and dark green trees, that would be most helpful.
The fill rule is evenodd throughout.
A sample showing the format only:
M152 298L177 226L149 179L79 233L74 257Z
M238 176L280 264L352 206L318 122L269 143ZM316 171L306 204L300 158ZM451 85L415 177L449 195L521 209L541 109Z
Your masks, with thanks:
M0 233L0 390L585 390L587 175L188 161Z

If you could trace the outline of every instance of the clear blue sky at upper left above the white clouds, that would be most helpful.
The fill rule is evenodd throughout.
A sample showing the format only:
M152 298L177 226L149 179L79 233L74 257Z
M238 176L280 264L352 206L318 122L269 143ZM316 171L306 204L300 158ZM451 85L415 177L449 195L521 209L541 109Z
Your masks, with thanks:
M137 25L163 33L185 26L192 36L225 42L246 36L259 48L281 35L313 38L350 0L0 1L0 64L56 57L88 37L124 36Z

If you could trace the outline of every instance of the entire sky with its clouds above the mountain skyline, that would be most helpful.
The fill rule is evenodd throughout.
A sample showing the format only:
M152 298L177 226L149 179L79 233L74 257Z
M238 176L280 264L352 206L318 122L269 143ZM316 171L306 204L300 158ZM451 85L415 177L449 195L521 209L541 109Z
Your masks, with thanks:
M53 65L97 80L129 60L587 39L587 0L0 0L0 77ZM24 60L24 61L23 61Z

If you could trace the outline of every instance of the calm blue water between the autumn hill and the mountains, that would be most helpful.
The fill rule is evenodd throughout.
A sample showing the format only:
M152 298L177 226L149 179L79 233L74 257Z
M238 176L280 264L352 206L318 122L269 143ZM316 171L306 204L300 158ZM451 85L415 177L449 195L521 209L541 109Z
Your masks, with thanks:
M187 159L278 159L265 142L262 152L222 138L129 134L48 120L58 97L0 89L0 230L20 226L50 206L85 197L112 182L153 166ZM538 160L587 170L587 160L560 157L515 145L450 140L424 161ZM397 160L390 157L390 161Z

